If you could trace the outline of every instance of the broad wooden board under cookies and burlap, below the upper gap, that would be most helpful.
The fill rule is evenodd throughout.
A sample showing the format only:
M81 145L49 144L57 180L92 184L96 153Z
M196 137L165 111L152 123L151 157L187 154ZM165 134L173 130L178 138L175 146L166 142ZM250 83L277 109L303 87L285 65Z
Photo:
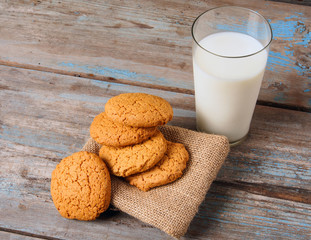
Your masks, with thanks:
M66 239L169 239L124 213L63 219L51 201L50 176L83 146L111 96L164 97L174 107L172 124L193 129L193 95L6 66L0 89L0 227ZM310 120L310 113L258 106L250 138L232 149L185 239L308 239Z

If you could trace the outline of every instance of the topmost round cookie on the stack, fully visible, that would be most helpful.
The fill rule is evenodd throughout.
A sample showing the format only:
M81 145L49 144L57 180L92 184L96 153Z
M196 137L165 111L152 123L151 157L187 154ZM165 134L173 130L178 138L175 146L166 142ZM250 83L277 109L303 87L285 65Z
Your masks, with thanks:
M133 127L164 125L173 118L172 106L163 98L145 93L123 93L105 105L113 121Z

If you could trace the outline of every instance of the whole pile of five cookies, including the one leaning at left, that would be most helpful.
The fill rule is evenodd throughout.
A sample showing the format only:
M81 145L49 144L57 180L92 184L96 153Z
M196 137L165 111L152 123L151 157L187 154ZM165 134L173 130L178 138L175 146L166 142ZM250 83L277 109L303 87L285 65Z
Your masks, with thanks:
M99 156L74 153L52 173L51 195L59 213L70 219L97 218L110 204L110 174L143 191L181 177L188 152L157 129L172 117L170 104L157 96L126 93L111 98L90 127L91 137L102 145Z

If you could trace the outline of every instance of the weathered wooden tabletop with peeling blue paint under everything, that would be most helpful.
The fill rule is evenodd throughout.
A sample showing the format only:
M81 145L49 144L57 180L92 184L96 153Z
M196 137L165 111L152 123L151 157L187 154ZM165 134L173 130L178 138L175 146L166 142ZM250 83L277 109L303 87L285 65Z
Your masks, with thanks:
M311 239L311 6L284 2L1 1L0 239L170 239L122 212L62 218L51 172L123 92L167 99L171 124L195 129L191 24L233 4L264 15L274 41L249 138L184 239Z

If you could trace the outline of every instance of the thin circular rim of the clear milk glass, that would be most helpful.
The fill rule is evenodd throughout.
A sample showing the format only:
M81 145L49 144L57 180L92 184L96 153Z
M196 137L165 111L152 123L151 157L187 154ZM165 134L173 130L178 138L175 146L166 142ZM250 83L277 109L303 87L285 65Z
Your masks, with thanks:
M254 52L254 53L251 53L251 54L248 54L248 55L242 55L242 56L224 56L224 55L220 55L220 54L217 54L217 53L213 53L213 52L211 52L211 51L205 49L204 47L202 47L202 46L198 43L198 41L197 41L196 38L194 37L194 33L193 33L194 25L195 25L195 23L198 21L198 19L199 19L202 15L204 15L205 13L210 12L210 11L212 11L212 10L219 9L219 8L239 8L239 9L242 9L242 10L246 10L246 11L252 12L252 13L258 15L259 17L263 18L264 21L266 22L266 24L269 26L269 29L270 29L270 34L271 34L270 41L269 41L265 46L263 46L263 48L260 49L259 51ZM192 27L191 27L191 34L192 34L192 39L195 41L195 43L196 43L200 48L202 48L204 51L209 52L209 53L211 53L211 54L213 54L213 55L215 55L215 56L223 57L223 58L244 58L244 57L253 56L253 55L255 55L255 54L257 54L257 53L260 53L260 52L262 52L263 50L265 50L265 49L271 44L272 39L273 39L273 32L272 32L271 25L270 25L270 23L268 22L268 20L267 20L264 16L262 16L260 13L254 11L254 10L252 10L252 9L244 8L244 7L238 7L238 6L221 6L221 7L215 7L215 8L211 8L211 9L208 9L208 10L204 11L204 12L201 13L199 16L197 16L197 18L194 20L194 22L193 22L193 24L192 24Z

